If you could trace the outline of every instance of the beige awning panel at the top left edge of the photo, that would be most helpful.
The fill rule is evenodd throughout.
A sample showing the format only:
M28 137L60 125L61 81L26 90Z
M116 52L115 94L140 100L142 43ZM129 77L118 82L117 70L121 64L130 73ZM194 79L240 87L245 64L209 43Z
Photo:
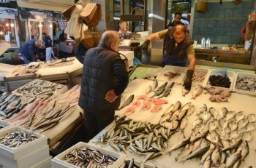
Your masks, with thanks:
M74 0L17 0L19 7L62 12L75 4Z

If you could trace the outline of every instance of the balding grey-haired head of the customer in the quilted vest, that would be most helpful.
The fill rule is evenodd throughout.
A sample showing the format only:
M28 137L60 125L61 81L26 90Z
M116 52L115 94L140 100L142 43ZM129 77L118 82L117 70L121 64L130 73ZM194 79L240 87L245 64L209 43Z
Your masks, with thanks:
M105 31L99 40L100 47L110 47L110 44L119 39L117 31Z

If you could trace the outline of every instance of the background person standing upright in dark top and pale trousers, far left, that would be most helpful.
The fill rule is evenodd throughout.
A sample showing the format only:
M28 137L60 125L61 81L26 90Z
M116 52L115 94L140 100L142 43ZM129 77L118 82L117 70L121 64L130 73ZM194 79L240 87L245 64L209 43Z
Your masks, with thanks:
M45 60L55 60L54 53L53 53L53 41L50 39L50 36L48 36L46 33L42 33L42 40L45 44ZM53 55L53 57L52 57Z

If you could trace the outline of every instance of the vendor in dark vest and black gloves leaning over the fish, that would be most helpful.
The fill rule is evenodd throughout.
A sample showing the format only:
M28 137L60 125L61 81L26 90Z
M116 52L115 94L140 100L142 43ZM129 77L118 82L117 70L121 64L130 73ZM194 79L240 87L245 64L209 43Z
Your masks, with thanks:
M176 25L174 28L152 33L141 45L141 48L147 50L148 44L150 44L151 41L159 39L165 39L165 53L162 60L162 66L186 66L187 62L189 62L184 87L185 89L190 90L192 76L195 70L195 50L193 47L194 41L190 39L186 26L180 24Z

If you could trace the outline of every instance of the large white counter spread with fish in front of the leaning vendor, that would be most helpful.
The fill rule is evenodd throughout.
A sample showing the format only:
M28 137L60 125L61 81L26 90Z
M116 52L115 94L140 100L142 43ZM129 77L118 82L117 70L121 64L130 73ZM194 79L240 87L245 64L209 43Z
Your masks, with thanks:
M185 94L180 82L129 81L115 121L89 144L157 167L255 166L256 97L208 86L207 73Z

